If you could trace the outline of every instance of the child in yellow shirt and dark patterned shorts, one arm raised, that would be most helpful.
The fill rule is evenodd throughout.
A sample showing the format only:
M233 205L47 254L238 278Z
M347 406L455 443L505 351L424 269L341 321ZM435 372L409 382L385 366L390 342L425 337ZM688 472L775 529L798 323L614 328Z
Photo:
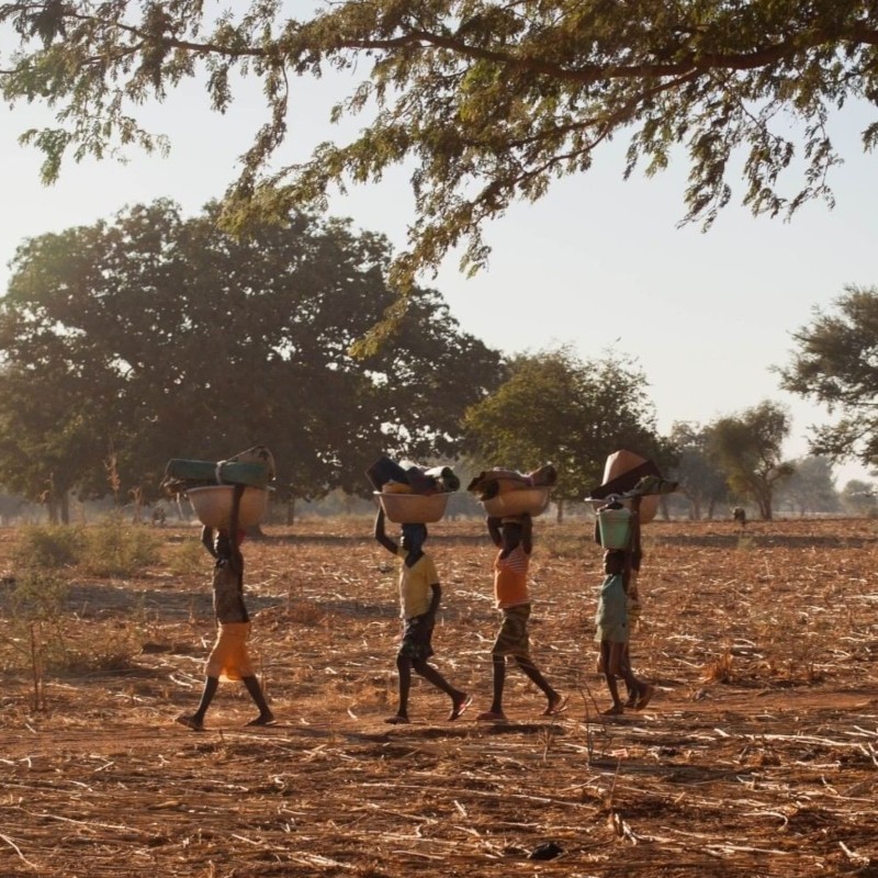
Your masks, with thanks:
M427 526L410 524L402 526L398 544L391 539L384 526L384 510L379 508L375 517L375 539L392 554L402 559L399 571L399 607L404 622L403 640L396 654L396 673L399 682L399 706L396 713L385 722L408 722L408 696L412 689L412 672L441 689L451 699L449 720L458 719L470 706L472 698L462 689L454 688L427 660L434 654L432 631L436 611L442 598L442 587L432 559L424 551Z

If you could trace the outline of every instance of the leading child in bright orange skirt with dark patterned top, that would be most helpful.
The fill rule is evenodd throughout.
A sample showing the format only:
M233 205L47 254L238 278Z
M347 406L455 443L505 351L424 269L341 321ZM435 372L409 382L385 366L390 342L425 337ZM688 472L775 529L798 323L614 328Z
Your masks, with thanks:
M198 710L177 718L177 722L195 732L204 731L204 717L216 695L221 678L241 680L256 702L259 716L247 725L271 725L274 722L274 714L266 701L247 652L250 617L244 603L244 555L239 549L243 533L237 527L243 492L243 486L236 485L229 529L218 531L215 543L210 528L204 528L201 536L204 547L216 559L213 571L213 608L218 631L204 668L204 690Z

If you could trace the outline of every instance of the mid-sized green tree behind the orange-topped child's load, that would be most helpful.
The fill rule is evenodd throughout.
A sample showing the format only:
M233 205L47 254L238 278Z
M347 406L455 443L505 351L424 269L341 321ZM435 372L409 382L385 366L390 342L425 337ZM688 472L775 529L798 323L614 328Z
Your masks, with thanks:
M468 409L468 444L489 466L527 472L553 463L561 515L564 500L599 484L608 454L660 449L646 387L643 372L621 357L582 360L569 347L520 354L508 380Z

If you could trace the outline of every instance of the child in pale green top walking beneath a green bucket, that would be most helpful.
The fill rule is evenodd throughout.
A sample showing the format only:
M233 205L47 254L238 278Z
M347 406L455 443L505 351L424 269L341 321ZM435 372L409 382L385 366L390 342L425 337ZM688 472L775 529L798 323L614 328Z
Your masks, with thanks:
M655 687L643 683L631 669L631 657L628 649L630 637L629 598L626 589L626 552L608 549L604 553L605 578L600 587L597 614L595 615L595 642L600 650L598 668L607 680L607 688L612 698L612 707L604 712L618 716L626 707L643 710L650 703ZM628 689L628 702L619 697L616 678L621 677Z

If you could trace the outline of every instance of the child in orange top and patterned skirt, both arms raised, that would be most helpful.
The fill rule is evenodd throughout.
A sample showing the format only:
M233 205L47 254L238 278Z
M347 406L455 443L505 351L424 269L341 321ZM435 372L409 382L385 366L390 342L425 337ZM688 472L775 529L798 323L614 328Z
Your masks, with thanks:
M528 619L530 618L530 593L528 590L528 565L532 549L532 519L529 515L495 518L488 516L487 531L499 549L494 561L494 598L503 614L500 629L491 650L494 698L491 708L476 717L483 722L502 722L503 693L506 685L506 658L516 664L542 691L548 701L544 717L560 713L566 708L566 697L560 695L540 673L530 657Z

